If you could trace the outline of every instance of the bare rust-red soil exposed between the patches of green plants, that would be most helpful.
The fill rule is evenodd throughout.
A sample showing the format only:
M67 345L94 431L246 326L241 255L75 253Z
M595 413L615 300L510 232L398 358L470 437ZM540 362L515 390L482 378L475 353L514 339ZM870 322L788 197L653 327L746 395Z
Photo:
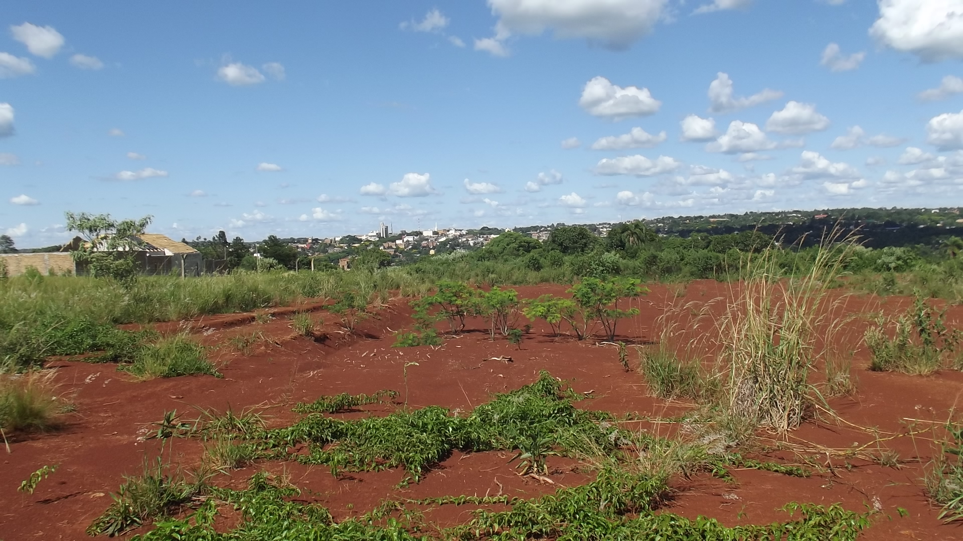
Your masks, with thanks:
M521 296L560 294L564 287L517 288ZM657 286L640 302L640 314L619 326L619 338L627 342L651 343L658 340L657 318L667 307L686 302L705 302L729 296L729 287L711 281L693 282L688 289ZM872 296L846 299L847 314L872 310L894 312L908 304L906 298L882 301ZM311 305L319 309L320 305ZM468 410L489 399L491 393L516 389L534 380L540 370L567 379L578 392L592 391L595 398L579 402L579 407L604 409L612 413L637 413L661 417L686 411L690 404L668 403L648 396L640 374L626 373L618 364L615 348L594 341L577 342L568 337L552 337L547 325L535 322L521 349L504 339L488 340L484 322L469 322L462 335L447 338L440 348L391 348L392 332L410 325L405 304L393 303L377 318L359 326L354 335L340 332L336 318L322 314L327 338L312 341L297 336L290 328L287 314L277 314L265 323L254 322L252 314L205 318L190 324L159 325L162 332L190 328L207 345L216 347L212 357L221 365L223 378L187 376L135 381L119 373L113 365L77 361L55 361L59 392L77 406L77 412L64 416L62 429L43 434L14 434L12 453L0 451L0 538L85 539L84 529L110 504L123 475L138 475L143 462L157 456L156 440L144 441L151 424L161 420L165 411L177 409L194 418L194 408L240 411L264 406L272 423L295 418L291 406L319 395L342 392L371 394L394 389L405 398L403 364L417 361L407 369L409 407L437 404ZM691 324L680 312L673 318ZM691 314L691 312L689 312ZM687 319L688 318L688 319ZM963 307L950 308L948 320L957 328L963 321ZM824 419L811 422L783 440L801 448L769 451L768 459L802 463L808 459L829 468L809 478L787 477L755 470L733 472L736 483L726 483L699 475L674 479L675 498L666 510L689 517L706 515L723 524L764 524L783 521L787 515L778 508L787 502L829 504L842 502L846 508L865 511L876 506L866 539L958 539L963 527L944 525L937 520L939 509L924 496L921 477L934 456L934 448L920 434L915 438L897 437L907 426L941 423L963 396L963 374L941 372L931 376L879 374L866 370L869 359L858 337L863 322L846 324L836 337L841 348L853 350L853 375L857 380L855 397L832 399L830 405L842 422ZM244 354L229 345L232 337L255 336L257 341ZM512 362L490 360L510 356ZM635 354L630 357L635 361ZM373 405L367 413L383 415L393 408ZM921 420L911 422L907 420ZM638 423L640 429L665 433L668 425ZM860 428L863 427L863 428ZM872 430L878 430L878 438ZM775 436L774 440L778 439ZM872 444L867 451L892 450L898 453L898 468L880 466L869 460L848 461L816 451L845 449L854 443ZM771 442L773 447L776 442ZM196 464L203 451L194 440L175 440L173 462L185 468ZM168 457L167 452L165 458ZM256 471L284 473L304 490L302 498L322 502L335 518L363 514L385 498L421 499L445 495L532 497L554 491L560 486L585 483L589 477L570 459L550 457L551 478L556 485L518 477L510 454L483 452L455 454L421 483L405 488L396 485L403 477L400 470L380 473L351 473L332 477L326 467L302 466L293 462L257 463L222 477L217 482L240 486ZM40 481L33 495L16 491L20 481L44 464L60 464L51 477ZM900 517L898 507L908 511ZM430 510L429 520L451 526L470 518L471 506L444 506ZM889 518L888 518L889 517Z

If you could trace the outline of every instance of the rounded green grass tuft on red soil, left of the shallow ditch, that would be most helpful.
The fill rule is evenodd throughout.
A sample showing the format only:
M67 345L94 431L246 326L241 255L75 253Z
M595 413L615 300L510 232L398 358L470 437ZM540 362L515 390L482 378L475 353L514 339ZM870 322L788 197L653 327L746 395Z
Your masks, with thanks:
M221 376L207 360L207 350L188 334L175 334L144 344L130 365L123 370L141 379L209 374Z

